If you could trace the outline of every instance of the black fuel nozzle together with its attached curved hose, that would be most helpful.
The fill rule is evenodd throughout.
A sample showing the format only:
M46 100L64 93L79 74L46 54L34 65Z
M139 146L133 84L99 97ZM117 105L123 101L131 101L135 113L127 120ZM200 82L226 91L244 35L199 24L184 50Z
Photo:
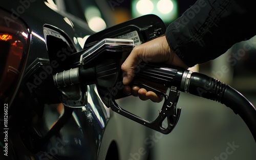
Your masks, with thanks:
M144 84L136 84L164 97L156 120L148 121L122 109L115 101L123 88L121 65L133 47L132 40L104 39L81 55L81 66L55 74L55 86L96 84L101 100L106 106L163 134L172 131L180 117L181 109L176 108L180 91L188 92L216 100L231 108L246 122L256 140L256 109L242 94L215 78L178 67L142 62L136 72L135 78L147 79L170 88L167 95ZM165 119L168 122L167 127L163 127Z

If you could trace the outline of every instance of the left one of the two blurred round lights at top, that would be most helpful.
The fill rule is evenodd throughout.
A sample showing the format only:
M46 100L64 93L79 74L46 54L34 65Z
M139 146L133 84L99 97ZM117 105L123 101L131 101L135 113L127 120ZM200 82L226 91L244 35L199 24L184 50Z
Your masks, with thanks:
M149 14L154 10L154 4L150 0L140 0L136 4L136 9L140 14Z

